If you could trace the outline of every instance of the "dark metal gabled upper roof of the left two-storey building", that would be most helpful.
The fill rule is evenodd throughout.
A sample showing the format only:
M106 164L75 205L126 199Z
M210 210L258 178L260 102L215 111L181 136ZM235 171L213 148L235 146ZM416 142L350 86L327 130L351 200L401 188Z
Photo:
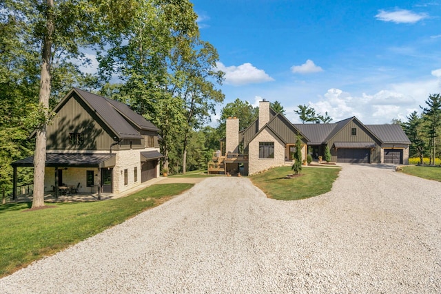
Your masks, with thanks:
M61 107L76 94L90 109L109 127L119 139L142 138L138 129L158 131L158 128L143 116L136 114L130 107L103 96L72 88L70 92L54 108L58 112ZM138 127L136 129L133 125Z

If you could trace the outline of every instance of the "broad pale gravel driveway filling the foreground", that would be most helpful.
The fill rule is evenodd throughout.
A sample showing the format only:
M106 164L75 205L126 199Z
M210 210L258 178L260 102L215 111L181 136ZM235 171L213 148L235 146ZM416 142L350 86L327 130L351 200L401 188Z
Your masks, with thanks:
M344 165L329 193L286 202L207 178L0 293L441 293L441 182Z

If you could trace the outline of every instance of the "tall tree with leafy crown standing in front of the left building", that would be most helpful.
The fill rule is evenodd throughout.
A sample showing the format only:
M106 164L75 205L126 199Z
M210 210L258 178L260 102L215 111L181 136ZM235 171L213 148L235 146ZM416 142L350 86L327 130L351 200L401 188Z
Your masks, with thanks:
M130 21L130 16L120 12L130 11L135 3L124 1L110 4L106 1L87 0L2 1L2 14L19 19L19 36L28 52L40 54L37 63L40 72L35 76L39 76L40 82L36 92L39 97L37 114L41 120L37 121L39 124L35 140L32 208L44 205L46 125L50 120L51 94L64 94L65 87L71 87L71 83L77 81L75 77L79 75L79 67L74 61L87 62L80 48L99 43L101 36L107 36L113 28L121 28L124 20Z

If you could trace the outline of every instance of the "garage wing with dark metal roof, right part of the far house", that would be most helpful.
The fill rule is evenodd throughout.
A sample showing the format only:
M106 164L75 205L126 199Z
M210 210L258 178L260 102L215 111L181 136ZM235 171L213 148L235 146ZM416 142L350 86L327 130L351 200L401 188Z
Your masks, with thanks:
M400 125L363 125L355 116L329 124L294 124L309 138L313 156L349 163L409 163L410 140Z

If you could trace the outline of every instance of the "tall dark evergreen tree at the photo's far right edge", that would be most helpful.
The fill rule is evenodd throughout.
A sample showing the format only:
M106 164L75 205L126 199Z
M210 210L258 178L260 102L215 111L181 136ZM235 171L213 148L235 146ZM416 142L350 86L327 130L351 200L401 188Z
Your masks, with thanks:
M430 94L426 101L428 107L421 107L422 118L427 122L427 134L429 134L429 149L430 149L430 165L435 165L435 139L438 137L441 126L441 95Z

